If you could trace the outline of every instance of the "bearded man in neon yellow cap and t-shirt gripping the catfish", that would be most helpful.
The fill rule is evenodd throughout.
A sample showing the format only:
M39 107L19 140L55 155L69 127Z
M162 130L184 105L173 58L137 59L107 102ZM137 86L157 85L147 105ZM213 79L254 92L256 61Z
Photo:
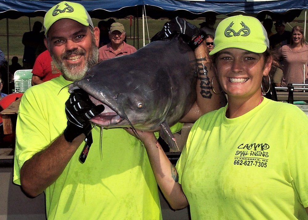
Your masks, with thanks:
M161 219L157 183L146 151L124 129L95 126L91 150L85 150L87 160L79 162L91 139L85 115L93 112L92 117L103 108L93 106L81 92L67 91L72 81L83 78L97 63L99 29L84 7L73 2L52 7L45 15L44 29L45 45L63 75L31 87L22 96L14 183L32 197L45 192L50 219Z

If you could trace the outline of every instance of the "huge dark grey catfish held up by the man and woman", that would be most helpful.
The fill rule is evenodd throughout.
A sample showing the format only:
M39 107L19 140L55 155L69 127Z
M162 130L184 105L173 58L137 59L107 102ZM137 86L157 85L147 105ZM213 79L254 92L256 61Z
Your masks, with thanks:
M91 119L94 124L160 131L169 147L176 149L169 126L183 118L196 100L196 82L195 54L176 35L97 63L73 85L86 91L94 104L105 106Z

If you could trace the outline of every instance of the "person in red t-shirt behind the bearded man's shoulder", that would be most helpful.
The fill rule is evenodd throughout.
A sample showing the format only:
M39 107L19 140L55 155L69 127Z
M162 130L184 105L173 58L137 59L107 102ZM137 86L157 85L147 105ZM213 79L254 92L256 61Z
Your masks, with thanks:
M35 60L32 70L32 86L41 84L61 75L48 50L41 53Z

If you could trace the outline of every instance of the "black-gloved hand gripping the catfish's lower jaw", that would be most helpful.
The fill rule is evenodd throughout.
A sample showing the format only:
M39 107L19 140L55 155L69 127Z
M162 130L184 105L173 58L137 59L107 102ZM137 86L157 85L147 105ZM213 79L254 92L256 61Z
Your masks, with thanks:
M95 105L89 95L82 89L75 89L65 103L67 127L64 130L64 137L72 142L80 134L86 136L91 131L90 119L103 112L103 105Z

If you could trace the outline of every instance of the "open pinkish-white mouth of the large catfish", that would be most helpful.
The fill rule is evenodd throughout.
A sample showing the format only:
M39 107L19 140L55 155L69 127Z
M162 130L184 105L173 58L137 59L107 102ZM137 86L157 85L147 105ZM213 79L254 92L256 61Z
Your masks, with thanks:
M119 124L124 120L124 118L122 118L117 112L111 109L107 104L102 103L101 101L95 99L93 96L89 95L89 97L95 105L102 104L105 107L103 112L90 119L90 121L94 124L99 124L103 127L110 127L110 125Z

